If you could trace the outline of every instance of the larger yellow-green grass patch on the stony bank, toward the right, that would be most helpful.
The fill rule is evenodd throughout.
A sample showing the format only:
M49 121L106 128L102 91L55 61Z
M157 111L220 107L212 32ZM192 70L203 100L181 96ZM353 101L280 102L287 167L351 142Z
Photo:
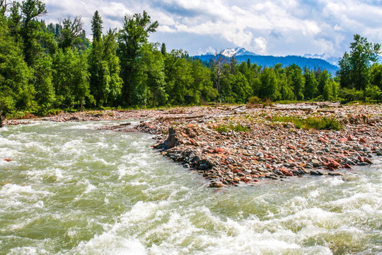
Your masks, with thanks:
M294 116L274 116L273 122L294 123L296 128L317 129L317 130L341 130L342 125L335 118L308 117L296 118Z

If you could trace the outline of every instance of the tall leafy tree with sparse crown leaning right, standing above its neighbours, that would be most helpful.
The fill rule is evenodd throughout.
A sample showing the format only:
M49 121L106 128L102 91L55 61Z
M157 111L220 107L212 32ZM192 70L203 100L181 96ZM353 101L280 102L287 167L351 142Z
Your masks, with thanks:
M154 33L156 28L158 28L158 21L151 22L146 11L123 18L123 27L118 34L118 55L124 82L122 93L127 106L139 103L141 89L137 86L140 84L137 80L139 79L137 67L140 61L138 57L141 47L148 41L149 33Z

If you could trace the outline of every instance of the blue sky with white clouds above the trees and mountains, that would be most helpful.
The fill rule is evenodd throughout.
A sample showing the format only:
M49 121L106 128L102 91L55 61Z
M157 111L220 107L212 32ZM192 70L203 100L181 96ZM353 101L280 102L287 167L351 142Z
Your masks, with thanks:
M88 38L98 10L104 31L145 10L158 21L151 42L190 55L245 47L259 55L341 57L353 35L382 43L382 0L42 0L46 22L82 16Z

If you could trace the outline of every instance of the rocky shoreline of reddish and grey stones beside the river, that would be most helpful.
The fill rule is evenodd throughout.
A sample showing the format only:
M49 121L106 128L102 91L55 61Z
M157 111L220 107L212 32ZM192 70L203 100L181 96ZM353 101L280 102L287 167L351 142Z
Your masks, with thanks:
M342 130L299 129L273 116L328 117ZM101 129L156 135L158 152L209 181L212 188L254 185L289 176L342 176L382 155L382 106L297 103L255 106L193 106L169 110L93 111L40 118L50 121L142 120ZM6 125L32 123L7 120ZM240 124L244 131L219 129Z

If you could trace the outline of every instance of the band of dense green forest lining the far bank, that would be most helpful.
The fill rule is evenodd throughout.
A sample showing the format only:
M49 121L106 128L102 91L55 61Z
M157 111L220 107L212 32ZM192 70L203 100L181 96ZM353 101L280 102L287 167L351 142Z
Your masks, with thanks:
M95 11L91 40L81 16L46 24L40 0L0 0L0 115L18 118L95 108L155 108L249 101L382 99L381 45L354 35L340 71L296 64L261 67L216 52L209 62L149 42L157 21L146 11L103 30Z

